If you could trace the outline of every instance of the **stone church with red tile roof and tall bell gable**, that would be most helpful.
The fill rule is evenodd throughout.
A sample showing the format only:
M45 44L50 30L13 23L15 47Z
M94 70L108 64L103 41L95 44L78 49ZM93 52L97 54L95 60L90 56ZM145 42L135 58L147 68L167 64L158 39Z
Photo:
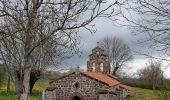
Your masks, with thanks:
M110 74L105 51L97 46L87 61L87 72L73 72L53 82L45 91L45 100L124 100L130 86Z

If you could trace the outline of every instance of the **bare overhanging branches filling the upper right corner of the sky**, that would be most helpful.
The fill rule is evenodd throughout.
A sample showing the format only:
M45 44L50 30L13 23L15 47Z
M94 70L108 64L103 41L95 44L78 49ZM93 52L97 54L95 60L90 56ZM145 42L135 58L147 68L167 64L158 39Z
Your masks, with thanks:
M122 7L123 8L123 7ZM135 34L145 37L138 40L149 48L160 52L163 60L170 55L170 1L169 0L127 0L122 17ZM124 23L123 23L124 24ZM151 55L149 55L151 57Z

